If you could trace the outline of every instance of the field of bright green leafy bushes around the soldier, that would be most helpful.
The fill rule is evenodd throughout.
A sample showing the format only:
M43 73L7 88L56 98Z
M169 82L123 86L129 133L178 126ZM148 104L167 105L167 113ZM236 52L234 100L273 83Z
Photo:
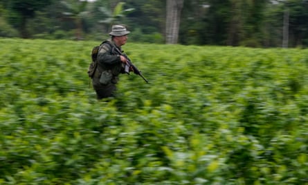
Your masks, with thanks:
M98 101L99 42L0 41L0 184L308 184L308 49L128 43Z

